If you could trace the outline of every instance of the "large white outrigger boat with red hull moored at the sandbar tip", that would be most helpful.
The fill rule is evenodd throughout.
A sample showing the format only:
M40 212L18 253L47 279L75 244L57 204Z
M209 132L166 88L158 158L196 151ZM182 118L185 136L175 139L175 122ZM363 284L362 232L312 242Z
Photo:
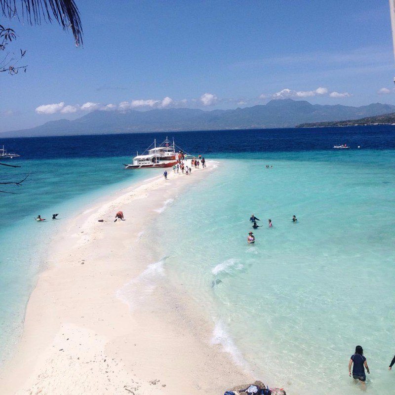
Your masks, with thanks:
M152 145L154 146L154 148L148 147L147 150L144 151L143 155L138 155L137 153L137 156L133 158L133 163L123 164L125 166L125 169L172 167L173 165L180 163L180 161L184 160L187 156L183 153L182 150L177 153L175 152L176 146L174 144L174 139L171 145L167 137L166 140L164 140L163 143L160 144L158 147L156 140L154 140L154 143ZM148 154L145 154L146 152L148 152Z

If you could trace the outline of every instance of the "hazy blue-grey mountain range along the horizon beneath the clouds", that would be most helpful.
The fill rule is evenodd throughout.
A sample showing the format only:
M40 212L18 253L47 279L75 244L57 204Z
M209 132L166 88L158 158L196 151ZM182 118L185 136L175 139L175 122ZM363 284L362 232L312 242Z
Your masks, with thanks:
M316 122L357 119L395 112L390 104L351 107L319 105L300 100L272 100L236 110L202 111L173 108L150 111L93 111L75 120L60 119L31 129L1 133L0 137L60 136L153 131L260 129L295 127Z

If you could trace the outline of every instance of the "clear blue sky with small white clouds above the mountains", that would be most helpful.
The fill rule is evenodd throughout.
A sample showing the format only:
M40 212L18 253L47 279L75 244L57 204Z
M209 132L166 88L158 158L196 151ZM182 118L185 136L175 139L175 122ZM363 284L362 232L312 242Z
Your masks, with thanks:
M395 104L388 0L76 0L83 47L18 21L0 74L0 132L89 111L230 109L290 97Z

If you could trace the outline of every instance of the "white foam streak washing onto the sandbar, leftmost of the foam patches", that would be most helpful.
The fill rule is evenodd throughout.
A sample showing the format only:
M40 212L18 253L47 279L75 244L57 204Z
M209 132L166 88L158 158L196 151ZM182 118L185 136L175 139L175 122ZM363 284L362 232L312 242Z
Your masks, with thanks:
M116 296L129 306L130 310L137 308L149 297L157 286L158 280L164 276L164 261L151 263L139 276L131 279L122 288L118 289Z

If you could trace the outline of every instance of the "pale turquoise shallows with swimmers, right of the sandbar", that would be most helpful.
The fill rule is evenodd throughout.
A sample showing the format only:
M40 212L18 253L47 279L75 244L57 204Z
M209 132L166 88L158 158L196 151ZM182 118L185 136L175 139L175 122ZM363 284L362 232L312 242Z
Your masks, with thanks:
M367 391L388 394L394 151L221 158L168 205L151 235L174 235L158 240L165 270L213 319L212 341L291 394L359 394L347 366L361 345L372 372ZM248 245L252 213L263 227Z

